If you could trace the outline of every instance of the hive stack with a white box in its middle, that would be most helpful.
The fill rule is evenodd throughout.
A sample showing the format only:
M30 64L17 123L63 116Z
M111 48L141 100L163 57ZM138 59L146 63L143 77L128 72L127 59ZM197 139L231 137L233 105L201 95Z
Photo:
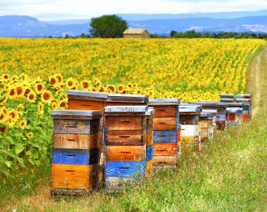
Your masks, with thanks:
M198 152L201 145L200 139L200 112L198 105L183 104L179 108L181 124L181 149L182 155L188 151Z

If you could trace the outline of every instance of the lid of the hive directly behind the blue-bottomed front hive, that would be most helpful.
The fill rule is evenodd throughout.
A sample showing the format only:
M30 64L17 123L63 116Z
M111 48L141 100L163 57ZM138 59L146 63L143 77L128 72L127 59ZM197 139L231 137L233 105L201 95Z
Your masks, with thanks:
M147 103L148 95L108 93L108 102L140 102Z

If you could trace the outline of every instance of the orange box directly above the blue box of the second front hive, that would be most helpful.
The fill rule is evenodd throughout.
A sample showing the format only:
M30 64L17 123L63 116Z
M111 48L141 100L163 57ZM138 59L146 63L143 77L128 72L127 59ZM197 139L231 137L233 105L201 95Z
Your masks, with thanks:
M106 146L106 160L109 161L132 161L145 160L145 146Z

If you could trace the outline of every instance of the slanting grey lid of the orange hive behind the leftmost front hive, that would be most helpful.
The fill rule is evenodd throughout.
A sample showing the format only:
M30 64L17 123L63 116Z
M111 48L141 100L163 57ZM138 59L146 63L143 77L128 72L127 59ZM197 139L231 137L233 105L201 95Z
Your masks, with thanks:
M108 98L108 93L86 91L86 90L68 90L68 98L78 99L78 100L96 100L106 102Z

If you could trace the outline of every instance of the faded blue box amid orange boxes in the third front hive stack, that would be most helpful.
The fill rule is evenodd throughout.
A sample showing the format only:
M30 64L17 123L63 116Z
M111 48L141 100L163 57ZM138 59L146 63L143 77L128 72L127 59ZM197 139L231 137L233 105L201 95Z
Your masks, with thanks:
M177 130L154 130L153 143L177 143Z

